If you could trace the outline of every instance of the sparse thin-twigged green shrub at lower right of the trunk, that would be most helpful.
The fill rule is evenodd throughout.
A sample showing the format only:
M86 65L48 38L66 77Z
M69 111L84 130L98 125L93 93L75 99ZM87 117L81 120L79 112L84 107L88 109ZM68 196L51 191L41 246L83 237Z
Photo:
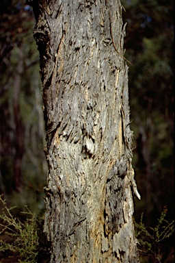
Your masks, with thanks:
M135 222L139 254L154 258L154 262L161 262L161 242L174 234L174 221L169 223L165 218L166 215L167 207L165 206L161 212L161 216L158 218L157 225L155 227L149 227L149 230L143 223L144 213L142 213L140 222Z

